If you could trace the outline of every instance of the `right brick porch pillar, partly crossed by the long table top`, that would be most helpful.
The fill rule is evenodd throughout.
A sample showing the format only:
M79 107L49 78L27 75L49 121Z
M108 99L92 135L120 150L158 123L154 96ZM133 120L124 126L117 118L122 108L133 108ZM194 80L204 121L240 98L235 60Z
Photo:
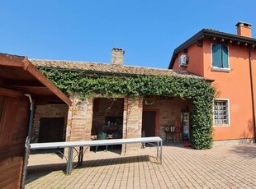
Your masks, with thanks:
M123 138L141 137L142 127L142 98L125 98L124 99L124 121L123 121ZM133 150L140 150L141 144L122 145L122 154Z

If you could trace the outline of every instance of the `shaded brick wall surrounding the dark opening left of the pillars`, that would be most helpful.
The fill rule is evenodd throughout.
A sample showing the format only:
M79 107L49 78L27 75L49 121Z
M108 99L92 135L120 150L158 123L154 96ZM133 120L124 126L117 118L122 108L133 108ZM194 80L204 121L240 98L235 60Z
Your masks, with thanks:
M36 105L31 142L38 141L40 118L64 118L64 133L66 131L69 106L66 104Z

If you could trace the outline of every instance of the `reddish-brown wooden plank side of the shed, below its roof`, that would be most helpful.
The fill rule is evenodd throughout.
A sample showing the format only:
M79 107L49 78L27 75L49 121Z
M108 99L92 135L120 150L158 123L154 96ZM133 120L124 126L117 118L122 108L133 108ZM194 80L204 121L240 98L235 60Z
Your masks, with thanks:
M29 124L29 100L0 92L0 188L20 188Z

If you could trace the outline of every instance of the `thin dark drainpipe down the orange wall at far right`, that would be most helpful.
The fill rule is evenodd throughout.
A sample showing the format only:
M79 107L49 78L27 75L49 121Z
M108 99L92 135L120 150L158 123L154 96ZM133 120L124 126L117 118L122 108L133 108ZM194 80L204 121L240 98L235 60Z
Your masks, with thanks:
M255 126L255 105L254 105L254 80L253 80L253 68L252 68L252 49L249 49L249 78L251 84L251 95L252 95L252 104L253 104L253 126L254 126L254 142L256 143L256 126Z

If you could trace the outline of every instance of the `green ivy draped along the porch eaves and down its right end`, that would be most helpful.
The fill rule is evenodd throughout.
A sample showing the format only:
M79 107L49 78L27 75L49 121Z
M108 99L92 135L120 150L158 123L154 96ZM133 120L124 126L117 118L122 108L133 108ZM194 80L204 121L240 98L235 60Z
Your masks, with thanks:
M87 71L44 67L40 67L40 71L59 87L59 90L69 95L157 95L160 98L178 96L191 99L192 146L195 149L211 148L215 89L205 80L184 76L103 76L88 74Z

